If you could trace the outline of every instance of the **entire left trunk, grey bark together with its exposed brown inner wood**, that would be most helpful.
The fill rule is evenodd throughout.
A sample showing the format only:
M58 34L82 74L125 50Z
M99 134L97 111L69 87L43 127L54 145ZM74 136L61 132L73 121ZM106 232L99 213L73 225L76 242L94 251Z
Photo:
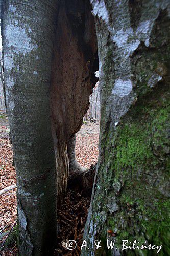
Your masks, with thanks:
M48 255L57 196L61 203L67 187L67 143L80 130L98 81L94 17L88 0L15 2L3 2L2 35L19 251Z

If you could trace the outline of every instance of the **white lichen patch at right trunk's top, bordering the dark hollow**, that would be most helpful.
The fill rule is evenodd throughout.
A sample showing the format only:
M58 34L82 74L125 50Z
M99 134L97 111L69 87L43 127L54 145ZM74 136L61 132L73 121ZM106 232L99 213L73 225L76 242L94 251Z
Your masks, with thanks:
M92 3L92 7L93 7L92 13L93 13L94 16L98 16L105 23L109 22L109 15L108 15L108 11L106 9L106 5L105 5L104 0L95 1L95 3Z

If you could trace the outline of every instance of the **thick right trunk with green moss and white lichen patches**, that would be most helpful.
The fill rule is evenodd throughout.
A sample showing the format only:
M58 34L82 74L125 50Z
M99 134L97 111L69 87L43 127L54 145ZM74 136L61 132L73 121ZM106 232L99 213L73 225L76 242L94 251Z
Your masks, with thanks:
M123 239L162 245L160 254L167 255L168 1L91 2L100 61L101 132L84 232L90 249L82 255L123 254ZM94 239L102 241L98 251ZM115 239L117 250L107 249L107 239Z

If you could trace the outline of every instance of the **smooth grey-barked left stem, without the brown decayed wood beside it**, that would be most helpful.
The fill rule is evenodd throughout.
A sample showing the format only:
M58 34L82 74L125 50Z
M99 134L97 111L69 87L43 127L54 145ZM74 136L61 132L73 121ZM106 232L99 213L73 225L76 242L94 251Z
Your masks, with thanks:
M56 243L56 166L50 81L56 1L3 2L7 110L17 173L20 255L49 255Z

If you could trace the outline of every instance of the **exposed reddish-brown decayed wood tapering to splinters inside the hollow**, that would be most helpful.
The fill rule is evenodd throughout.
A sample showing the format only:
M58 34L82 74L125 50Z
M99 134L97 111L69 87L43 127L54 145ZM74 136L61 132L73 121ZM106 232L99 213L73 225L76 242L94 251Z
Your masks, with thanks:
M67 186L67 143L80 130L89 95L98 81L97 41L88 0L60 3L51 86L52 131L58 170L58 200Z

